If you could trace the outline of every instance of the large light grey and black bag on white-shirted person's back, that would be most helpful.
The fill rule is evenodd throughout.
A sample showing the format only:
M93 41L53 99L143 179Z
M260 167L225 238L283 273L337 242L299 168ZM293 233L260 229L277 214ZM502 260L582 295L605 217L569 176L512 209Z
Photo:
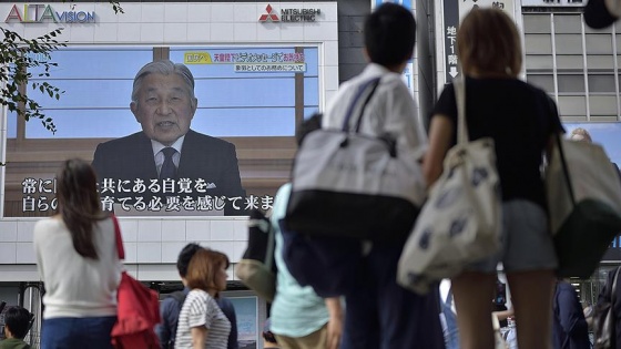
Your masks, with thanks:
M380 84L380 78L374 78L360 85L340 130L317 130L302 143L283 220L286 230L370 240L409 234L425 198L420 154L399 152L391 134L360 132L366 106Z

